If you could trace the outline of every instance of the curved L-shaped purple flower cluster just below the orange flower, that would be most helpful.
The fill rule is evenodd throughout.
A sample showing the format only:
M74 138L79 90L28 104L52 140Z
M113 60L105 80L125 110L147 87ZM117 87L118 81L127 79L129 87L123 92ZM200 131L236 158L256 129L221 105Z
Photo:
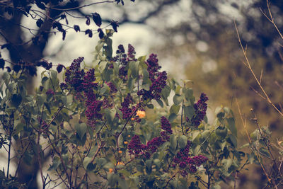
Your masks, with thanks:
M146 145L141 144L139 136L134 135L132 140L129 142L129 154L133 154L135 156L144 156L145 158L149 159L151 154L156 152L158 147L169 140L169 134L172 134L171 124L165 117L161 117L161 128L165 130L160 132L161 137L154 137L153 139L149 140Z

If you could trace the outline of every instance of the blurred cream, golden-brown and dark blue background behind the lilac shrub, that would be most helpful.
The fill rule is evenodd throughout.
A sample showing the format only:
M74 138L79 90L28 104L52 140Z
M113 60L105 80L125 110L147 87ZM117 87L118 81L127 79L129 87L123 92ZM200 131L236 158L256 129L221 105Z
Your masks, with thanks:
M83 2L79 1L80 4ZM234 25L235 21L255 74L260 77L262 72L262 86L272 102L282 110L283 41L275 26L264 15L268 14L267 1L137 0L134 3L125 1L125 6L99 4L80 10L72 15L85 16L95 11L103 18L102 26L107 26L112 20L119 22L118 32L113 36L113 52L118 45L127 46L128 43L135 47L137 56L153 52L158 55L159 64L172 77L192 80L190 85L195 96L207 93L212 115L216 106L232 108L241 138L239 147L246 144L248 139L240 121L236 98L243 117L247 118L249 132L255 130L251 120L253 115L250 114L250 108L253 108L260 125L270 127L274 142L282 140L282 118L255 92L261 94L258 84L243 64L245 59ZM270 1L270 10L277 27L282 30L283 1ZM18 19L28 28L36 28L30 17ZM68 21L69 25L74 25L77 20L69 16ZM81 28L90 27L85 21L81 22ZM33 36L25 28L14 29L18 30L15 35L23 39ZM5 28L1 30L4 32ZM91 52L97 41L98 35L88 38L84 33L74 30L67 30L64 41L61 34L49 35L48 42L41 49L42 57L55 65L68 66L77 57L85 57L86 64L91 64ZM2 50L2 55L9 57L11 52ZM250 166L249 169L250 172L238 175L238 186L262 188L265 176L261 168ZM224 188L230 188L229 181Z

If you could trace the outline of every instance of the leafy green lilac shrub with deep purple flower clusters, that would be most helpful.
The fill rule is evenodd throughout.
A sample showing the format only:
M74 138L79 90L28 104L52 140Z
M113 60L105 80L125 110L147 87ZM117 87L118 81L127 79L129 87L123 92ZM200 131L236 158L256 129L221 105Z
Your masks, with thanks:
M67 69L43 71L34 95L24 74L4 72L1 187L28 188L18 183L19 166L11 173L12 159L37 161L44 188L219 188L233 180L248 159L238 150L232 111L218 108L209 124L204 93L195 103L186 81L168 79L156 55L137 58L132 45L112 56L112 33L98 42L93 67L79 57Z

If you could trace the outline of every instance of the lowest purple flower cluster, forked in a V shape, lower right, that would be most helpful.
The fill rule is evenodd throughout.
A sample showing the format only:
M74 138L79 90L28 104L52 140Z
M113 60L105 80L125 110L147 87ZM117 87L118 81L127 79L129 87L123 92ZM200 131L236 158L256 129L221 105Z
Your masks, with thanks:
M187 145L184 149L180 149L180 151L178 151L177 155L173 159L173 162L178 164L180 168L188 168L191 173L195 173L197 171L197 167L201 166L208 159L202 155L191 158L189 156L190 145L191 142L187 141ZM173 164L173 166L175 166L175 164ZM185 177L187 176L187 171L183 170L180 172L180 174Z

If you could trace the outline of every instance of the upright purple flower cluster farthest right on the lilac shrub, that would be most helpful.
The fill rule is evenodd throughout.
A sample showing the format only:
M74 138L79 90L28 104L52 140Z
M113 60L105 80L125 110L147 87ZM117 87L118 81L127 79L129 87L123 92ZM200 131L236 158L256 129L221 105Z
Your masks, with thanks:
M195 115L192 117L191 120L187 119L187 121L190 121L193 126L195 127L199 126L202 120L204 120L204 116L207 113L207 103L206 103L207 101L208 101L207 95L202 93L200 95L200 100L194 104Z

